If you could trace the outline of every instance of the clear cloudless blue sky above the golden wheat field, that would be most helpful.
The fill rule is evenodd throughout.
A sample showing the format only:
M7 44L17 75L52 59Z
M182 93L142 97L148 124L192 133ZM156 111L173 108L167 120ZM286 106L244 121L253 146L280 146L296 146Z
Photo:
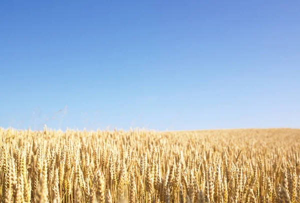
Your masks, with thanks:
M0 126L300 127L299 8L2 1Z

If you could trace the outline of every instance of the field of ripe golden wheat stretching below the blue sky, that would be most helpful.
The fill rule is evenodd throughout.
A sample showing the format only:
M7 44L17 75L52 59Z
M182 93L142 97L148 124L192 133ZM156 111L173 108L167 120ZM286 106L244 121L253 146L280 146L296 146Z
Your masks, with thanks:
M0 129L2 202L300 202L300 129Z

